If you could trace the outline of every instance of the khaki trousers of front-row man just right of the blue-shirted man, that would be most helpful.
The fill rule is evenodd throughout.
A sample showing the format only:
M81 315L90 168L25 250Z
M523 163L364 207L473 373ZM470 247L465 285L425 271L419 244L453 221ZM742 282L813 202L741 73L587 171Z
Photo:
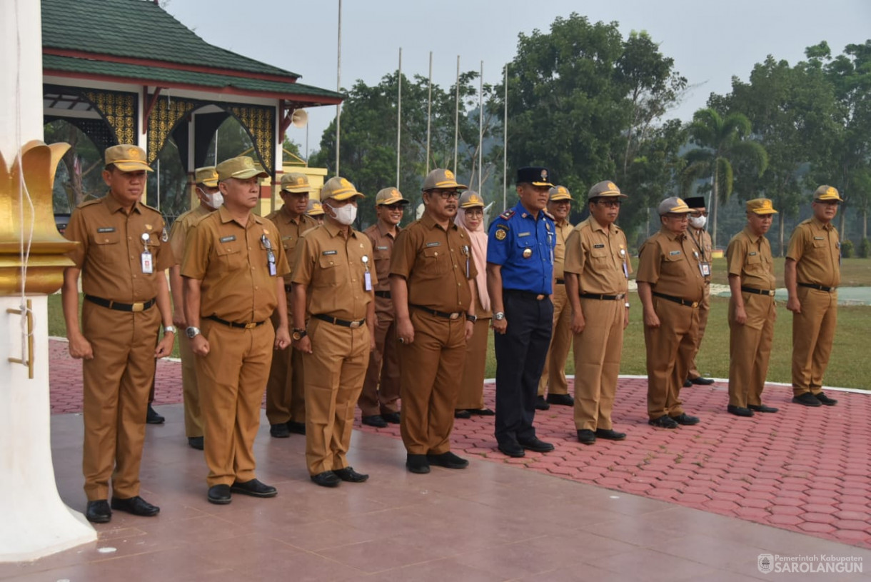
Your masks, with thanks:
M623 353L625 300L581 298L584 331L575 335L575 428L610 430Z

